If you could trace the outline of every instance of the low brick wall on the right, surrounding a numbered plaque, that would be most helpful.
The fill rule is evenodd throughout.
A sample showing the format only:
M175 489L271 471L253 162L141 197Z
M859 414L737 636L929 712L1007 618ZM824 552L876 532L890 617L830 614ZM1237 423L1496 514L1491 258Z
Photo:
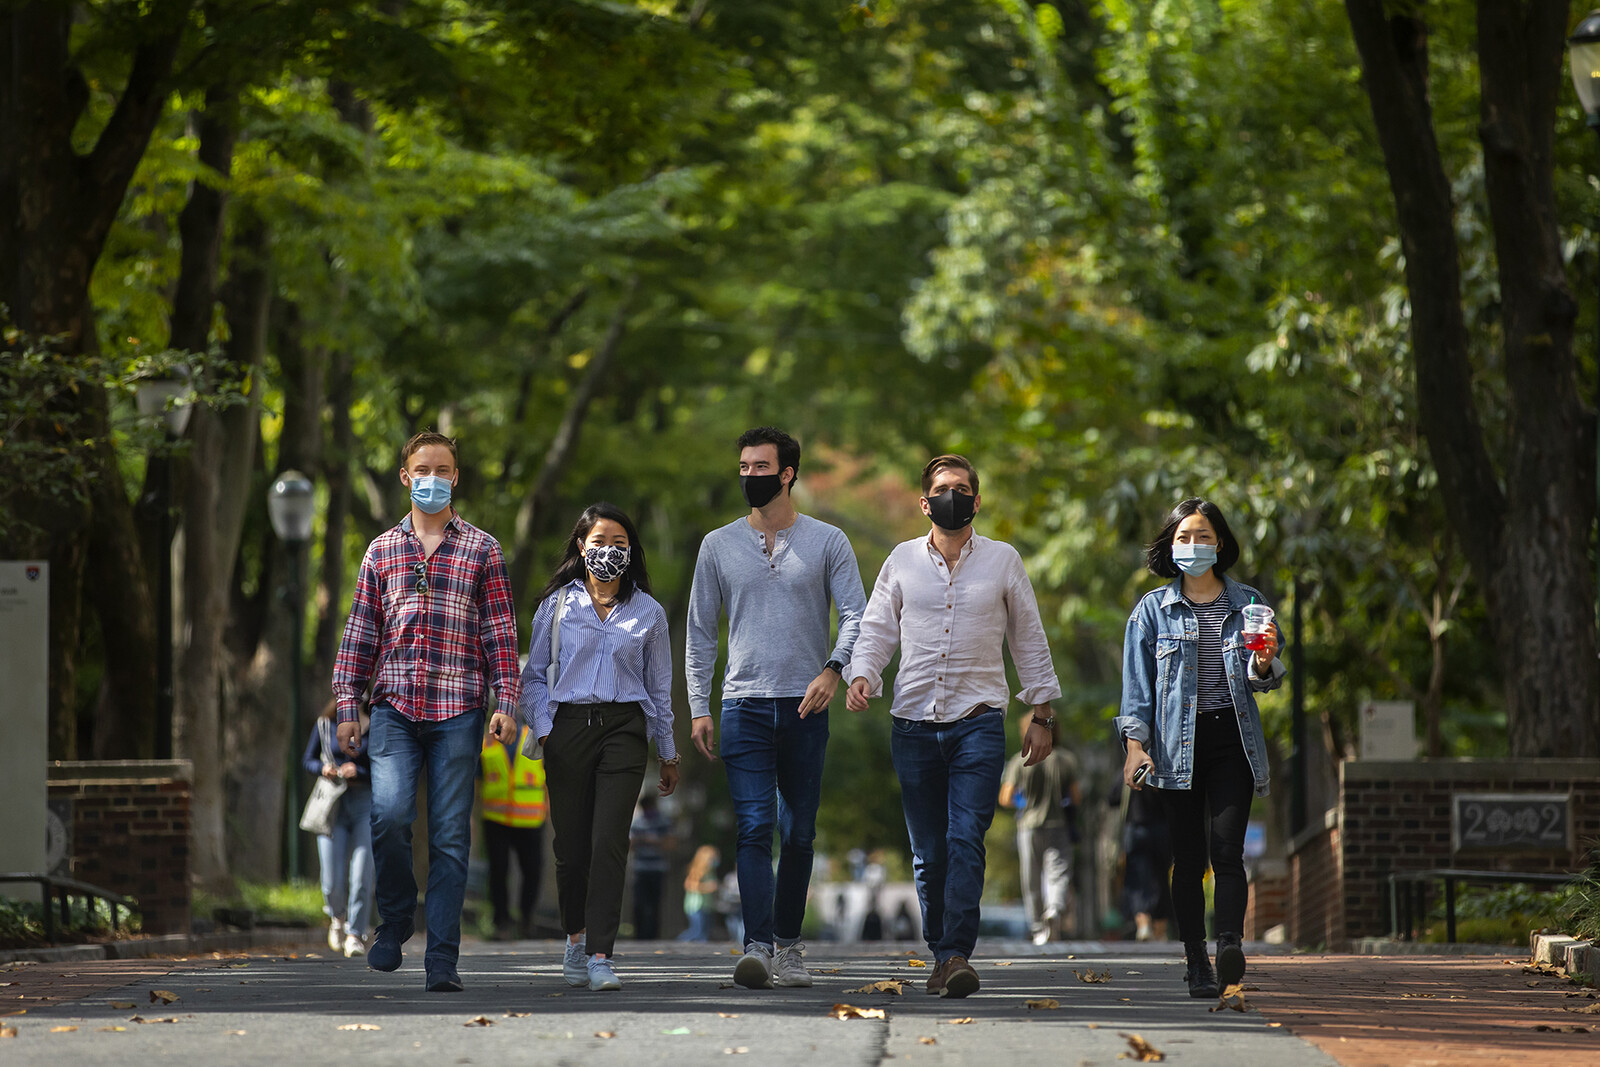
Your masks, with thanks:
M1451 840L1451 795L1566 793L1573 848L1467 853ZM1581 870L1600 838L1600 760L1346 760L1339 805L1290 845L1290 939L1339 950L1389 933L1395 870Z

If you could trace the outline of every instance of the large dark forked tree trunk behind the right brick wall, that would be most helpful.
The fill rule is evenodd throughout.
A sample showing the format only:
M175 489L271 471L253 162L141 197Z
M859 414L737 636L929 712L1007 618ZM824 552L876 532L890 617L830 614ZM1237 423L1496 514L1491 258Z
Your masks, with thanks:
M1472 400L1454 210L1427 96L1427 27L1386 6L1346 0L1400 222L1418 419L1451 526L1483 576L1510 750L1600 755L1587 563L1594 458L1578 454L1584 418L1550 162L1566 3L1478 5L1482 138L1512 410L1507 490Z

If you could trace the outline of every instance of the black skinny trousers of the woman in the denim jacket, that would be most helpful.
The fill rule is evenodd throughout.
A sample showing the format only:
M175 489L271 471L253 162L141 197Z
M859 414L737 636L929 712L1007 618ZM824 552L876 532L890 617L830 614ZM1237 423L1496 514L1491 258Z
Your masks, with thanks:
M1173 838L1173 910L1184 944L1205 941L1206 865L1216 875L1216 933L1245 931L1245 824L1256 779L1232 710L1200 715L1195 725L1192 789L1163 789L1166 827ZM1206 808L1211 833L1206 837ZM1210 859L1206 856L1210 845Z

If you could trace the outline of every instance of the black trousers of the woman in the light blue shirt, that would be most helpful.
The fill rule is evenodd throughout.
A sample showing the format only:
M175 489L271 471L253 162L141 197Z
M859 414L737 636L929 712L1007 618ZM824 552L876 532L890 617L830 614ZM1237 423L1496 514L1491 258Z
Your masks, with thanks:
M544 741L562 929L587 931L590 953L610 957L616 945L627 830L646 757L645 712L638 704L562 704Z

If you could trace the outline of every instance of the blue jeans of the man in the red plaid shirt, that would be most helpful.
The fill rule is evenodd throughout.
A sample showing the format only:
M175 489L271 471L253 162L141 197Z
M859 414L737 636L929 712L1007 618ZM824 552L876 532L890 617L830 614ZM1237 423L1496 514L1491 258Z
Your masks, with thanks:
M472 793L483 744L483 712L438 723L373 705L366 752L373 760L373 861L378 867L378 934L411 937L416 875L411 824L416 787L427 771L427 969L454 968L461 955L461 901L472 849Z

